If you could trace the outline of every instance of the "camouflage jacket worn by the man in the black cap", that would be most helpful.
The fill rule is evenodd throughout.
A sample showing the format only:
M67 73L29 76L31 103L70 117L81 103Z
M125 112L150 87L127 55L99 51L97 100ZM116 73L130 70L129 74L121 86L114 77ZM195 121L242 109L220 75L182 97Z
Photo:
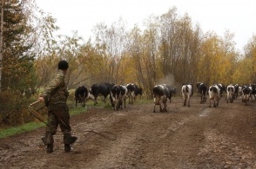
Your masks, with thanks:
M59 70L41 94L45 102L49 101L49 104L66 103L68 91L64 79L64 72Z

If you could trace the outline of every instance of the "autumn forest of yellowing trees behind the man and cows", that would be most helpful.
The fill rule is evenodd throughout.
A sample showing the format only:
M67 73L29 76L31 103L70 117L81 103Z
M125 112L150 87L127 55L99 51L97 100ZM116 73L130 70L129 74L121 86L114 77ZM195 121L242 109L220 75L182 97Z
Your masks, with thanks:
M157 84L179 91L184 82L210 86L256 80L255 35L240 51L232 32L203 32L187 13L179 16L176 7L149 16L145 29L134 25L127 30L122 19L111 26L98 23L94 38L84 40L76 31L72 36L53 36L59 29L56 19L38 10L35 0L0 4L0 126L33 120L26 107L37 101L62 59L70 64L69 90L99 82L135 83L149 99Z

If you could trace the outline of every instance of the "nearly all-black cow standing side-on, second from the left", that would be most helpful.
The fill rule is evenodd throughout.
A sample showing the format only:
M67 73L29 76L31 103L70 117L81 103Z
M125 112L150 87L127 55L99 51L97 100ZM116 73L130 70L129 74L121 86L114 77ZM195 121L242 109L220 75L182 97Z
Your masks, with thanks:
M106 97L108 94L111 93L111 87L113 87L114 84L108 83L108 82L103 82L103 83L98 83L94 84L91 86L91 93L94 96L94 105L98 104L97 102L97 97L103 95L104 96L104 103L106 100Z

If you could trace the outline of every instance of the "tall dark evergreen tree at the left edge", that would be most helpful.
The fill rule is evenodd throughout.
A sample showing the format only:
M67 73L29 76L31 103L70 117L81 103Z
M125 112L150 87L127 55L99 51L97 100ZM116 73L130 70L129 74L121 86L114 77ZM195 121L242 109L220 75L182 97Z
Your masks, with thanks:
M30 88L32 85L30 74L33 72L34 56L28 55L31 45L25 40L30 26L22 5L19 0L3 4L2 91Z

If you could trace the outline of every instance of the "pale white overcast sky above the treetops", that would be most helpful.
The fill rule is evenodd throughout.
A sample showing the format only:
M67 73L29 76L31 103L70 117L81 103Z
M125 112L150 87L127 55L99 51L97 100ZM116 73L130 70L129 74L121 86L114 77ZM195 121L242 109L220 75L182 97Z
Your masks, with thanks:
M161 16L173 6L177 13L185 12L192 22L199 23L204 33L214 31L224 36L226 29L235 34L237 49L242 50L249 39L256 35L256 0L36 0L40 9L57 19L59 34L71 36L77 30L88 40L93 26L104 22L118 22L120 17L131 29L150 15Z

